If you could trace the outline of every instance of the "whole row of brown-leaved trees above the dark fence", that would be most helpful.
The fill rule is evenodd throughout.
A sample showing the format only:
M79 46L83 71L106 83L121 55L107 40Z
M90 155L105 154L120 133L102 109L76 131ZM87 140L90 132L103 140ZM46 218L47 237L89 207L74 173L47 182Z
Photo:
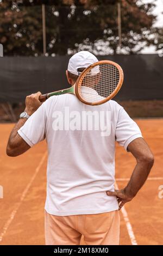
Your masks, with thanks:
M79 49L118 52L118 0L3 0L0 3L0 42L8 55L42 53L41 3L46 5L47 52L66 54ZM155 45L154 4L121 0L122 52L137 53ZM14 25L13 25L14 24ZM151 36L154 34L155 36Z

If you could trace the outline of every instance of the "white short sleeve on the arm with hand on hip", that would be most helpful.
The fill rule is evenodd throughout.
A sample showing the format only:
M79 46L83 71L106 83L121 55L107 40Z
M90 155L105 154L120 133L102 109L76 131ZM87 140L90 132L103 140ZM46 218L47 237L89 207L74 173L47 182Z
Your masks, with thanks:
M116 125L116 141L127 150L129 143L136 138L142 138L139 126L129 117L124 108L121 108Z

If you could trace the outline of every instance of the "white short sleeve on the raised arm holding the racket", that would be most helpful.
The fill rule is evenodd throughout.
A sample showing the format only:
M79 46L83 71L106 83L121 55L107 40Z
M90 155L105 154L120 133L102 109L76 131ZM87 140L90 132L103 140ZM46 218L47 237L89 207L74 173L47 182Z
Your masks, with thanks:
M30 147L33 147L45 139L46 121L46 111L42 104L17 132Z

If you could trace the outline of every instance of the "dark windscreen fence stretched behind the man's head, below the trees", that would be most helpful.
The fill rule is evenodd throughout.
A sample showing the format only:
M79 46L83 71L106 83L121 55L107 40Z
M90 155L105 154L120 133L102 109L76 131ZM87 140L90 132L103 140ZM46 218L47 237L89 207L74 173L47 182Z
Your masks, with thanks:
M70 56L1 57L0 102L22 102L26 95L68 88L65 70ZM156 54L99 56L122 66L118 100L163 99L163 58Z

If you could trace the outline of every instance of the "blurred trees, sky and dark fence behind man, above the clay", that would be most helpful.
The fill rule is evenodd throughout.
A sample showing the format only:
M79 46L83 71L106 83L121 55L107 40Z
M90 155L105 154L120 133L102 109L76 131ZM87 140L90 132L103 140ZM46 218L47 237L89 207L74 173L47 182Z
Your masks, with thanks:
M163 117L162 0L0 0L0 44L1 122L18 119L26 95L67 88L81 50L122 66L115 100L131 117Z

